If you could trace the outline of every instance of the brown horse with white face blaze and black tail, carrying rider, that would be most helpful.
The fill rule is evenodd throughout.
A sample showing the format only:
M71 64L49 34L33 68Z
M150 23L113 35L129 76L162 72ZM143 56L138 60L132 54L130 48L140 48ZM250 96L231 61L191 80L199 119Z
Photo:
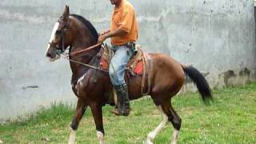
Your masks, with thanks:
M69 53L82 50L85 47L94 46L98 42L98 33L89 21L76 14L70 14L66 6L62 16L58 19L52 32L46 57L54 61L60 58L68 47ZM76 62L70 62L72 70L71 84L74 94L78 97L74 119L70 124L70 143L74 143L75 131L78 123L85 113L86 107L90 106L100 143L104 143L104 129L102 123L102 106L108 101L111 92L109 74L88 66L82 66L80 62L90 66L98 66L100 46L84 54L70 56ZM162 122L147 135L146 143L153 143L155 136L171 122L174 126L171 143L176 143L181 128L182 119L171 106L171 98L181 90L187 74L198 87L204 102L212 98L210 87L206 79L192 66L182 66L173 58L165 54L147 54L152 69L150 74L150 96L154 104L162 114ZM79 63L77 63L79 62ZM142 77L126 78L129 87L130 100L142 98ZM145 88L146 89L146 88Z

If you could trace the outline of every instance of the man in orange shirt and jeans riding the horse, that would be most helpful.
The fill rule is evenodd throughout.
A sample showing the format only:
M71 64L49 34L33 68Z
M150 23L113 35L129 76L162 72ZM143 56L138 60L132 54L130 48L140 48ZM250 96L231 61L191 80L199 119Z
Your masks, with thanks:
M111 38L114 57L110 62L110 80L117 91L118 108L111 112L127 116L130 113L128 89L125 82L125 68L134 54L134 46L138 39L138 25L134 7L126 0L110 0L114 5L110 30L102 33L98 43Z

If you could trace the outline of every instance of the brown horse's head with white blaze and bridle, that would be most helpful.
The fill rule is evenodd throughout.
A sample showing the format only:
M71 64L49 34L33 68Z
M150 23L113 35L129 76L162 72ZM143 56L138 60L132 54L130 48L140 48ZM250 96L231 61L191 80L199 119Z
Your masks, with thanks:
M69 6L65 7L62 16L55 23L54 29L50 36L50 42L46 50L46 57L50 58L50 61L55 61L60 58L71 42L71 29L70 29L70 9Z

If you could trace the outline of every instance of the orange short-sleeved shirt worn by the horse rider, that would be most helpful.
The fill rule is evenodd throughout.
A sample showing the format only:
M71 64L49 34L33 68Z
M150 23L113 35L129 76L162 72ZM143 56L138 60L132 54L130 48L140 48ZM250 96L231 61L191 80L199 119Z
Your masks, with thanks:
M110 30L114 30L118 27L125 30L127 34L112 37L112 45L119 46L126 44L127 42L135 42L138 39L138 25L134 12L134 6L132 6L130 2L127 2L126 0L122 0L122 3L118 8L114 7Z

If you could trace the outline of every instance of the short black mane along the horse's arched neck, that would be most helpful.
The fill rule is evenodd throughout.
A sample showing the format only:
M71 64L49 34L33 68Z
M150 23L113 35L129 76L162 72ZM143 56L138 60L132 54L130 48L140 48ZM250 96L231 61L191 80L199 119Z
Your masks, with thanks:
M79 21L81 21L90 30L95 42L98 42L98 32L95 27L88 20L86 20L86 18L83 18L81 15L78 14L70 14L70 16L77 18Z

